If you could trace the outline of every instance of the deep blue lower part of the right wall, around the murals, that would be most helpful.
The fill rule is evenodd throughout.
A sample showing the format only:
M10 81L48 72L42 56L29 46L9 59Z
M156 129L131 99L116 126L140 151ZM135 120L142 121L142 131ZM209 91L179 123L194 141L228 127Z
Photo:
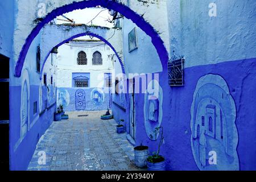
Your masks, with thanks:
M236 103L238 130L237 154L241 170L255 170L256 154L256 59L237 60L215 65L205 65L185 69L185 83L181 88L163 86L164 144L160 154L167 159L167 169L198 170L191 147L191 104L193 92L200 77L211 74L220 75L228 83L230 94ZM161 83L160 83L161 84ZM241 87L242 85L242 87ZM169 88L168 88L169 87ZM136 94L137 144L150 146L150 152L156 151L158 142L150 140L144 129L144 94ZM250 149L249 149L250 148Z

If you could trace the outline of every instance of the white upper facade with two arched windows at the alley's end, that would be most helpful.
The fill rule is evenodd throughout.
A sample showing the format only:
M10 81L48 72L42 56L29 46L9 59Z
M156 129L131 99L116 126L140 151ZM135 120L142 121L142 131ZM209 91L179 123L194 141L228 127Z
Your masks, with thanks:
M77 54L80 51L86 53L88 65L77 65ZM102 55L102 65L92 65L93 53L96 51ZM108 55L114 55L114 52L103 42L63 44L57 54L57 87L71 88L72 73L90 73L90 88L103 88L104 73L112 73L114 68L113 61Z

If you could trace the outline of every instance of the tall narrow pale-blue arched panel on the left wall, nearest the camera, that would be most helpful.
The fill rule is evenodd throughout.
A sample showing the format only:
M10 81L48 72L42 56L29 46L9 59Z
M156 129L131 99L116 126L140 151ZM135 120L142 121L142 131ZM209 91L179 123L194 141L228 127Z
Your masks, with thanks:
M23 139L30 129L30 78L27 69L22 71L22 86L20 100L20 139Z

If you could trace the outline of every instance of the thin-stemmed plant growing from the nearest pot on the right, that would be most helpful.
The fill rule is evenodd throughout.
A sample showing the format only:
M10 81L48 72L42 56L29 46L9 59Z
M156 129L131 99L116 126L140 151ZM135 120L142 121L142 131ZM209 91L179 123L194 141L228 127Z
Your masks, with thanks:
M164 160L163 156L159 155L160 147L162 146L163 140L164 140L163 127L162 126L156 127L154 133L155 133L155 138L157 137L158 134L161 133L161 138L160 138L160 142L158 144L158 150L156 152L153 152L153 155L148 156L147 161L151 162L151 163L158 163L158 162L162 162Z

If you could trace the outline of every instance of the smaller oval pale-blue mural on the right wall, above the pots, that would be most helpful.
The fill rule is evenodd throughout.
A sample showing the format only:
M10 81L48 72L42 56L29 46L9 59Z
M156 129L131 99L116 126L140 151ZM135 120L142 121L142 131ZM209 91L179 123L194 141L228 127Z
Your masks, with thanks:
M155 132L160 127L163 117L163 89L157 80L152 80L144 94L144 126L147 137L156 140L159 133Z

